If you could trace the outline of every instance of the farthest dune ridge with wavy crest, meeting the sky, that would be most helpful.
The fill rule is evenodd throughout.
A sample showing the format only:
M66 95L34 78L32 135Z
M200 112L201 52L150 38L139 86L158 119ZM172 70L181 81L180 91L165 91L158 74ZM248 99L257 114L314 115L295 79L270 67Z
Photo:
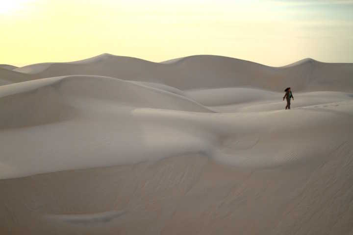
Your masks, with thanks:
M28 79L101 75L161 83L179 90L251 86L281 92L283 87L291 86L296 91L353 92L353 64L330 64L312 59L275 68L214 55L189 56L153 63L102 54L77 62L36 64L14 71L27 73Z

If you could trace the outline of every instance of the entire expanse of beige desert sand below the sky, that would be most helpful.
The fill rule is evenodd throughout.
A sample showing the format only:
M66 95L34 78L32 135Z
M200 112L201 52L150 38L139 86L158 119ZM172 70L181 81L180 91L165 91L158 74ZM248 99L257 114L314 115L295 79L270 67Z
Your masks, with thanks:
M6 71L0 234L353 234L352 64L103 54Z

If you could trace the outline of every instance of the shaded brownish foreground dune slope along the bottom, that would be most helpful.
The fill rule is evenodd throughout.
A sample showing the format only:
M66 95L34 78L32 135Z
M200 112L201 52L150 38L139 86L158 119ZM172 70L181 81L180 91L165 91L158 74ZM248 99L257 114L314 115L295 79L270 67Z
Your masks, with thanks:
M239 169L188 155L2 180L0 230L350 234L351 146L338 146L320 164L295 167Z

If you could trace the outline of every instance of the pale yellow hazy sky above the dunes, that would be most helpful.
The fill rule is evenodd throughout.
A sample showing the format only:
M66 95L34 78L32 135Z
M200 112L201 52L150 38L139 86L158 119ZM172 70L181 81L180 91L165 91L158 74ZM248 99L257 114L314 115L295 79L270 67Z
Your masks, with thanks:
M0 64L102 53L353 63L353 0L0 0Z

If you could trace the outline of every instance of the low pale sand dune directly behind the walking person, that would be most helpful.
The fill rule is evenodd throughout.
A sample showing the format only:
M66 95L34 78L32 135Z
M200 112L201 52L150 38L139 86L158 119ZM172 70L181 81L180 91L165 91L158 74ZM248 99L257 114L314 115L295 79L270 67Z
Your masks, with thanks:
M259 112L280 110L285 106L285 101L280 98L282 93L264 91L253 88L220 88L189 90L185 96L219 112ZM351 93L343 92L306 92L294 93L296 108L309 105L352 100Z

